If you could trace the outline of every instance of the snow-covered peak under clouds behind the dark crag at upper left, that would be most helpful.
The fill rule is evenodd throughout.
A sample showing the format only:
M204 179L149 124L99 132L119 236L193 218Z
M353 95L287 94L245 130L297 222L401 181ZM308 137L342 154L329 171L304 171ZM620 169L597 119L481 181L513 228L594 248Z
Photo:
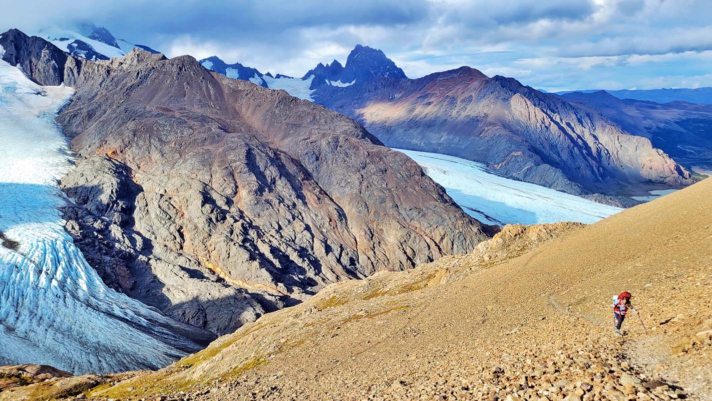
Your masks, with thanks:
M79 24L73 28L50 26L41 28L32 34L51 42L54 46L61 48L72 56L86 58L91 61L122 57L130 52L132 48L159 53L148 46L115 38L107 28L93 24Z

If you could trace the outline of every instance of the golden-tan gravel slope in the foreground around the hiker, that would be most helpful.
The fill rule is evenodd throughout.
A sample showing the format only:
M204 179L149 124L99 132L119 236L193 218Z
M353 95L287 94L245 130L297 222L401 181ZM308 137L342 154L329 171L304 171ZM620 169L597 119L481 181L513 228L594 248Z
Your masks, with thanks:
M591 226L508 226L471 255L329 286L95 395L708 399L711 193L707 179ZM649 333L629 319L614 337L624 289Z

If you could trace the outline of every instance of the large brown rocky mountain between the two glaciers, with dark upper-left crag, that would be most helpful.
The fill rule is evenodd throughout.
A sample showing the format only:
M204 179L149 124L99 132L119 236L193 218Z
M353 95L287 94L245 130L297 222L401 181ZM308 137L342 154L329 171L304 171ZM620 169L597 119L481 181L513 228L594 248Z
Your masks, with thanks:
M227 333L486 238L408 157L284 91L189 56L93 63L19 31L0 46L38 83L75 88L58 116L79 156L68 231L106 282L181 321Z

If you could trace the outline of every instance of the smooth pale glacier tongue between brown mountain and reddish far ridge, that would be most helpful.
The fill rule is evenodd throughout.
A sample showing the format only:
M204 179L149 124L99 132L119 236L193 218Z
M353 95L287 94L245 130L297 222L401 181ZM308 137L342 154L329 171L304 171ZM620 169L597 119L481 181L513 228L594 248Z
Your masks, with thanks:
M439 153L394 149L421 165L470 216L485 224L595 223L623 209L498 175L485 165Z

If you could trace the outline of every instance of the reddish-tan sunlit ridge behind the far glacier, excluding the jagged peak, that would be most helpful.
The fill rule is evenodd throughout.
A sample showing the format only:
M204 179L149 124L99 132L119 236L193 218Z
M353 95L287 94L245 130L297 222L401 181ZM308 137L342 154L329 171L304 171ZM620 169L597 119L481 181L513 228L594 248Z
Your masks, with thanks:
M382 78L320 88L315 100L351 115L386 145L484 162L507 177L572 194L624 184L690 184L644 137L596 113L473 68L417 80Z

